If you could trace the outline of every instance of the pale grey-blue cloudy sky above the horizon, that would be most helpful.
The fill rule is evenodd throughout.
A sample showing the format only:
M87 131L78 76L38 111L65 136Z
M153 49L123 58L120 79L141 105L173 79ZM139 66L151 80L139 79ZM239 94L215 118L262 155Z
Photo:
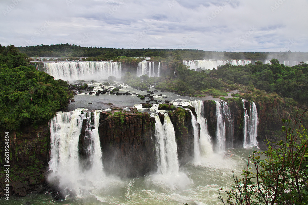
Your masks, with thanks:
M1 0L0 44L308 51L307 0Z

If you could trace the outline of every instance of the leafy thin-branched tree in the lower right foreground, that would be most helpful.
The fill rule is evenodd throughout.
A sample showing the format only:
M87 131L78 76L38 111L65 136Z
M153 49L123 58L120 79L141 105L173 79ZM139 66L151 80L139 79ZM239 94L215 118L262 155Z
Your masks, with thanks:
M225 191L227 204L307 204L308 133L301 125L303 115L297 115L293 127L291 120L282 120L285 140L268 142L265 152L253 151L241 178L233 173L234 184ZM219 198L225 204L221 193Z

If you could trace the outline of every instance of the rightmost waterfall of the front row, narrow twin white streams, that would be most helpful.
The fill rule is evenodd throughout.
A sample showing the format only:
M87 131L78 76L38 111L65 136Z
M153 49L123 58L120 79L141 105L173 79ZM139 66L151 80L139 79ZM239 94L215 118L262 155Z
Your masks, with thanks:
M247 108L245 108L245 100L243 101L244 106L244 124L243 124L243 134L244 134L244 148L254 147L258 145L257 141L257 127L258 127L258 114L257 107L254 102L250 103L249 114Z

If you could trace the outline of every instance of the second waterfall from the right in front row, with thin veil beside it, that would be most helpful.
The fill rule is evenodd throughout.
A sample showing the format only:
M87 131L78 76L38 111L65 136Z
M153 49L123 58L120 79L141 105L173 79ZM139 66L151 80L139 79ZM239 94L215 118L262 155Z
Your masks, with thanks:
M233 147L234 125L228 103L225 101L216 101L216 149L218 152L224 152L226 146Z

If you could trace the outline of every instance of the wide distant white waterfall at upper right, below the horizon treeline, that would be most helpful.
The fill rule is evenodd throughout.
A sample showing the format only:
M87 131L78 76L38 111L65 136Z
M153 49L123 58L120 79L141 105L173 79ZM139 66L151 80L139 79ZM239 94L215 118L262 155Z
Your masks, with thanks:
M201 68L202 70L211 70L213 68L217 68L220 65L226 65L226 64L231 64L231 65L248 65L251 63L251 61L248 60L203 60L203 61L183 61L183 65L189 66L189 69L196 70L197 68Z

